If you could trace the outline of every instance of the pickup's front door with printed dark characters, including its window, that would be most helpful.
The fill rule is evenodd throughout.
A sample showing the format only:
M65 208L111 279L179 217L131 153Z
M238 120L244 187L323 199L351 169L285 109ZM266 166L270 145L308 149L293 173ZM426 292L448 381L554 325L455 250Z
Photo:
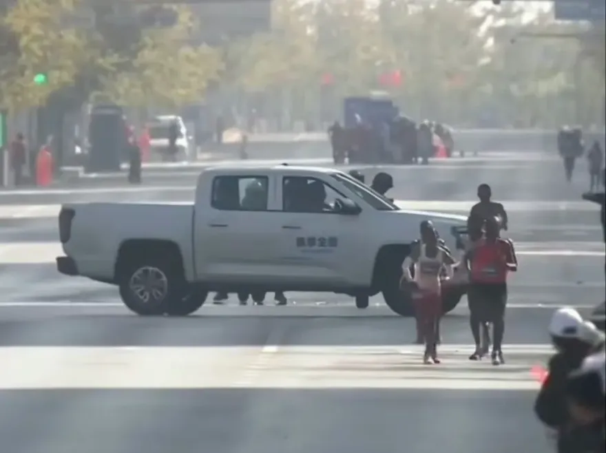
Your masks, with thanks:
M280 273L293 283L321 286L348 282L353 275L359 219L333 211L346 198L322 180L282 177Z

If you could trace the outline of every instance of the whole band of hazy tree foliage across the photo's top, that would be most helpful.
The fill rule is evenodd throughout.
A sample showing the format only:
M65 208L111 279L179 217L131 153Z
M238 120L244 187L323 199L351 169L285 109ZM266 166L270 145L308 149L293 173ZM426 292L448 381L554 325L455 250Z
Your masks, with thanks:
M596 123L603 110L603 28L583 37L582 27L523 3L273 0L270 30L211 49L194 43L205 18L185 6L173 26L146 28L136 19L149 6L138 0L120 3L123 21L114 2L86 1L96 28L66 27L62 18L85 1L12 0L0 19L0 103L98 92L125 105L177 106L221 83L294 119L332 120L344 96L377 89L410 116L461 125ZM401 84L382 86L394 71ZM33 84L36 72L48 85Z

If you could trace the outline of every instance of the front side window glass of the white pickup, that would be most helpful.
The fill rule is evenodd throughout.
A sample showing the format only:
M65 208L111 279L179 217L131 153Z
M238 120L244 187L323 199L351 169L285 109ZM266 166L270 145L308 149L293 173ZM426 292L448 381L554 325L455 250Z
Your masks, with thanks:
M346 196L316 178L285 176L282 180L282 211L300 213L331 213L335 199Z

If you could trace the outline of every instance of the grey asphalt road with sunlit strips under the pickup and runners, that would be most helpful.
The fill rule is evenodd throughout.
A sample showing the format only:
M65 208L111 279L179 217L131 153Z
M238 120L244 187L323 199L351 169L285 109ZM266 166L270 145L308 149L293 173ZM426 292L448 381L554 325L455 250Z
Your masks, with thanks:
M327 153L325 150L324 152ZM253 164L251 164L253 165ZM366 168L368 178L379 171ZM288 294L290 306L205 306L188 319L129 315L114 288L50 262L64 201L187 201L164 187L0 193L0 439L8 453L551 452L532 418L531 369L550 351L556 306L603 299L598 209L540 154L395 167L391 196L464 213L480 182L510 212L507 364L471 363L465 304L443 322L443 363L421 366L410 319L376 297ZM170 173L170 172L168 172ZM116 184L114 184L115 186ZM446 201L447 200L447 201Z

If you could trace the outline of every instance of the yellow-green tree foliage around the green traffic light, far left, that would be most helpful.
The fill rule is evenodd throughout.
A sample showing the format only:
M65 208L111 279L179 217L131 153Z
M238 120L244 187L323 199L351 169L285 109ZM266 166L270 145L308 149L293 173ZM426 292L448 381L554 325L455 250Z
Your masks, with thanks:
M58 89L72 85L88 59L83 32L69 28L65 17L80 0L17 0L0 19L14 46L0 74L0 103L11 110L38 107ZM34 76L45 74L36 85Z

